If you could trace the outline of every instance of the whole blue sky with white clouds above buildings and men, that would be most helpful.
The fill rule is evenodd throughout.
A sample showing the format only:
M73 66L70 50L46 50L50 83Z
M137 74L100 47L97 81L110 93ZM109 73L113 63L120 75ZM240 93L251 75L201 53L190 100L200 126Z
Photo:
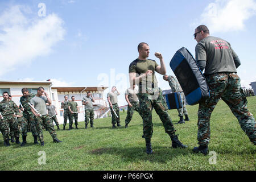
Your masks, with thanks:
M137 45L162 52L167 74L177 49L195 55L195 28L226 39L240 57L241 84L256 81L255 0L0 1L0 80L46 81L54 86L112 86L123 93ZM158 75L162 89L168 83Z

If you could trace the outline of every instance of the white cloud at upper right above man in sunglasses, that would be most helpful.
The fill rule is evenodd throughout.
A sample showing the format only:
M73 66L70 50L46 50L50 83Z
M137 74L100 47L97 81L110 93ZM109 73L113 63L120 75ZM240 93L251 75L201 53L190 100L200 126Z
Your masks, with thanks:
M240 31L255 14L254 0L216 0L204 9L200 24L207 25L210 32Z

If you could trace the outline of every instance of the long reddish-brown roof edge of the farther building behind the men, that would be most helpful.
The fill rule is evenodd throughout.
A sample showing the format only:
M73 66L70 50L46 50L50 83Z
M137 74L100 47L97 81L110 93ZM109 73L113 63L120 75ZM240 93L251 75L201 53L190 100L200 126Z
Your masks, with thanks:
M76 87L76 86L53 86L52 89L57 89L57 92L88 92L88 91L99 91L99 90L106 90L108 86L81 86L81 87Z

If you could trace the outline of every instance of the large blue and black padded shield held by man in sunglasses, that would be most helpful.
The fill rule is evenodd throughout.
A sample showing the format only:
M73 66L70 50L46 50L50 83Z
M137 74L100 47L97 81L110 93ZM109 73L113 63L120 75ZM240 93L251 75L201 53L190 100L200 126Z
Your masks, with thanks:
M196 64L196 60L185 47L175 53L170 67L177 77L189 105L198 104L200 100L210 97L207 81Z

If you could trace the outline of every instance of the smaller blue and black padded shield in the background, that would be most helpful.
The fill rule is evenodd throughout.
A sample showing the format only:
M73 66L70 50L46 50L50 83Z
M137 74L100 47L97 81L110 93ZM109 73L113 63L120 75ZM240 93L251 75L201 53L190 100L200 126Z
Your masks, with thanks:
M179 92L166 94L166 103L168 109L180 109L182 108L182 101Z

